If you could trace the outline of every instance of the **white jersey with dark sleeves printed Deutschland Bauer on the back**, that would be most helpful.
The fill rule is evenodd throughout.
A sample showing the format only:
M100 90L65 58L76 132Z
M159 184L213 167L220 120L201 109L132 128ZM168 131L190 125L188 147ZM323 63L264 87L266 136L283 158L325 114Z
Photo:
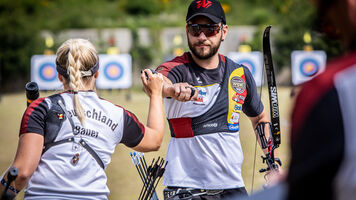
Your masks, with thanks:
M73 93L56 95L66 112L52 97L31 103L21 122L20 135L37 133L45 141L25 199L107 199L109 189L104 170L111 154L119 143L128 147L138 145L145 132L144 125L131 112L89 91L78 93L86 116L83 127L74 111ZM59 144L53 145L56 142Z

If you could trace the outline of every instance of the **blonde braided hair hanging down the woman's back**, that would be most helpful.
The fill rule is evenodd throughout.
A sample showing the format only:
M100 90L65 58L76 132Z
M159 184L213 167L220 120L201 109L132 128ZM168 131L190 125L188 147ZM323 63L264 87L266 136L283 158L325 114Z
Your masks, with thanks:
M84 82L91 79L90 77L82 77L81 71L87 71L93 67L98 61L97 52L94 46L84 39L70 39L64 42L57 51L57 62L61 67L66 68L69 78L63 84L68 84L69 88L73 90L73 104L74 110L84 126L85 115L84 109L80 103L78 91L85 89Z

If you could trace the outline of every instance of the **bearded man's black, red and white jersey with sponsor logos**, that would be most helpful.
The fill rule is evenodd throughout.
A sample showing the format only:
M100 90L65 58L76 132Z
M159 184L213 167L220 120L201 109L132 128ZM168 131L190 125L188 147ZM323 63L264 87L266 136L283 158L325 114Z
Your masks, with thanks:
M190 53L157 69L172 83L194 86L197 101L164 99L171 140L163 184L198 189L243 188L239 115L258 116L263 105L250 71L219 55L215 69L198 66Z

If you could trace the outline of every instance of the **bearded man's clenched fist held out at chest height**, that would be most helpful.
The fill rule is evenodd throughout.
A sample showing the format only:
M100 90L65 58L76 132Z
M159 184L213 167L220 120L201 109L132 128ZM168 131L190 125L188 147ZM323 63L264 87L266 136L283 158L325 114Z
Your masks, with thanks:
M196 101L198 99L198 89L188 83L175 83L164 86L165 94L177 101Z

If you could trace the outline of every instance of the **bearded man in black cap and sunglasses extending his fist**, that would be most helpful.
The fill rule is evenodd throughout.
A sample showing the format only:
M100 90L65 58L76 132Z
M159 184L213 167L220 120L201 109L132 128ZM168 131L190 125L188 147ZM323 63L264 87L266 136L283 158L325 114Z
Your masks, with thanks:
M239 117L244 112L253 128L270 120L250 71L218 54L228 32L220 3L192 1L186 22L190 52L156 69L171 97L164 99L172 136L165 199L246 196Z

